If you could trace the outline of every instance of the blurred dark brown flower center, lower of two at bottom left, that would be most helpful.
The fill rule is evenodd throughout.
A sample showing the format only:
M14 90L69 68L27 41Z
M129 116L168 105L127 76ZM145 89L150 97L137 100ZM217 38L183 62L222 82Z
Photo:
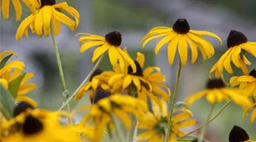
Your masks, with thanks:
M43 129L44 125L33 116L26 116L22 125L22 132L25 135L34 135Z

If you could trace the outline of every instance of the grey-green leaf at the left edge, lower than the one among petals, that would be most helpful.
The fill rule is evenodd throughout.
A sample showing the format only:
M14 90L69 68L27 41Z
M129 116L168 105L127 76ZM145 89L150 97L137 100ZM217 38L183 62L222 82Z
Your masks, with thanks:
M13 109L16 106L15 99L12 97L12 94L7 91L6 88L2 86L0 83L0 100L3 106L4 111L6 112L7 119L11 119L13 117Z

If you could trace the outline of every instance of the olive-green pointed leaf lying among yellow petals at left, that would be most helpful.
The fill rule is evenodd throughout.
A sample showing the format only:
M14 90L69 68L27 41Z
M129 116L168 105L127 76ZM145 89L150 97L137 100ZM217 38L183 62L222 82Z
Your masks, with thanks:
M18 76L12 82L8 83L8 90L12 93L12 97L17 97L17 91L22 83L23 78L25 77L26 73Z

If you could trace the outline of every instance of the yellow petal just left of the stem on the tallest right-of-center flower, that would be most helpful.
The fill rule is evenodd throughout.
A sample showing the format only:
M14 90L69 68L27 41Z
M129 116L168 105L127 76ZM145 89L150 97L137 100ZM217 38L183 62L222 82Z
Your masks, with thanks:
M173 61L175 59L176 54L176 46L178 45L178 42L180 40L180 35L177 35L168 45L167 52L168 52L168 61L169 64L173 64Z

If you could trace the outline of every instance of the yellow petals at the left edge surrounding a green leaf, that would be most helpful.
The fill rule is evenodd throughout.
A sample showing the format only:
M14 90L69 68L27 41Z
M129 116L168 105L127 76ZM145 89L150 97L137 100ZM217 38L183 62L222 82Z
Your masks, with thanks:
M11 50L5 50L0 53L0 83L4 88L11 91L13 82L17 79L22 78L17 88L17 102L25 101L33 102L30 98L24 96L28 92L31 92L36 88L34 83L27 83L27 81L35 76L34 73L23 74L25 64L20 60L12 60L8 62L12 54L17 54ZM25 100L24 100L25 99ZM34 102L36 104L36 102Z

